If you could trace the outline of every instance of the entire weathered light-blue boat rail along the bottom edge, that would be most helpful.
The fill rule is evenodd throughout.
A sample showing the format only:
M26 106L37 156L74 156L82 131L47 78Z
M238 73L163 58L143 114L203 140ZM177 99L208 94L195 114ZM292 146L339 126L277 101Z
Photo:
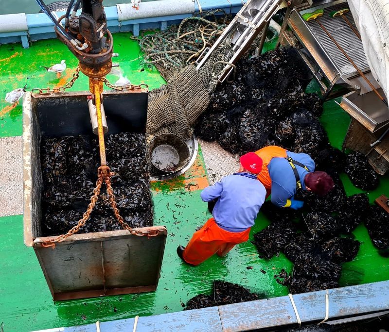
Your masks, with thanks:
M326 290L293 296L301 322L314 324L326 315ZM329 321L389 309L389 281L328 290ZM238 332L297 325L296 313L289 297L283 296L212 308L181 311L163 315L140 317L137 332L149 331L212 331ZM132 331L134 318L100 323L105 331ZM96 325L65 328L64 332L95 332Z

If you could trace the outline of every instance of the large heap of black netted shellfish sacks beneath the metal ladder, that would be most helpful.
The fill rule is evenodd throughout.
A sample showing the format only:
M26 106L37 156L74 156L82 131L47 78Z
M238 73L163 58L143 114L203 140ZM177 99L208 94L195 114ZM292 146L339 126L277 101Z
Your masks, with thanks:
M208 109L197 121L195 133L205 140L217 140L223 149L240 154L275 144L312 151L324 145L327 136L317 118L322 113L322 103L317 95L303 91L306 67L297 59L298 54L289 48L273 50L252 60L242 59L237 65L236 82L216 89ZM293 128L293 133L285 137L279 123L296 112L308 110L313 117L310 123Z

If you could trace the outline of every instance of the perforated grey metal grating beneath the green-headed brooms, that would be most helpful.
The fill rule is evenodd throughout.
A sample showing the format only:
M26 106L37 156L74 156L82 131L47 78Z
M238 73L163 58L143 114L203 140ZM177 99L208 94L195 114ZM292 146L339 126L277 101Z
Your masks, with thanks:
M328 32L336 39L339 45L347 52L354 63L363 72L369 69L369 64L366 59L365 52L363 50L361 40L355 35L353 30L348 26L345 20L340 17L330 17L330 13L344 9L347 7L346 3L339 3L330 7L324 8L323 16L318 17L322 25L328 30ZM315 8L312 8L312 12ZM355 26L354 17L351 12L345 14L350 23ZM323 48L331 56L336 66L339 68L342 75L352 77L358 72L344 54L336 47L333 41L328 35L320 28L316 20L306 22L310 30L315 34L318 40L321 42ZM356 28L356 26L355 26Z

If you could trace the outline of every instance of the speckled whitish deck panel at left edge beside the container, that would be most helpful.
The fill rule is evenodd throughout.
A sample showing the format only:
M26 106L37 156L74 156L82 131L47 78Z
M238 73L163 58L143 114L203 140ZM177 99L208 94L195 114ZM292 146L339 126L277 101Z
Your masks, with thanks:
M23 213L22 136L0 138L0 216Z

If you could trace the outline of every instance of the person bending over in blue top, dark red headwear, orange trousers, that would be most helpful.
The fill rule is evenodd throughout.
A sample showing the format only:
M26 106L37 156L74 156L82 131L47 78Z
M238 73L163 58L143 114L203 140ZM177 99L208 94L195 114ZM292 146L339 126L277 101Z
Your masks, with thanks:
M265 186L266 197L279 207L300 209L304 202L294 199L297 190L326 195L334 181L326 173L315 171L315 162L306 153L295 153L277 146L268 146L255 152L263 161L258 180Z

